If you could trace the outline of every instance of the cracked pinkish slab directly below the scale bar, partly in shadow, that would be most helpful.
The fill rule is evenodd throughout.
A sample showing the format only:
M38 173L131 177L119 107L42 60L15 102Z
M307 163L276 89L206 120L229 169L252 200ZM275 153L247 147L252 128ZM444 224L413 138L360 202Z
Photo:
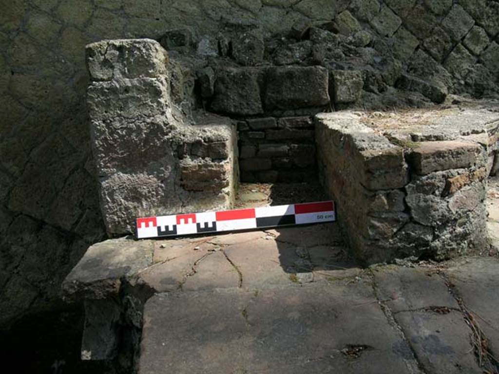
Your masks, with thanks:
M156 292L263 288L361 272L334 223L157 240L154 246L154 264L137 277Z

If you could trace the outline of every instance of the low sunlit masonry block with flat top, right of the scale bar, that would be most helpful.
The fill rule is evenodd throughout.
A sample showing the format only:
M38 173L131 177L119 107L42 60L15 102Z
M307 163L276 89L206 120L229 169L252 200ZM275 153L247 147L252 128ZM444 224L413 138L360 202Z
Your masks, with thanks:
M410 112L390 123L383 131L359 113L316 116L320 180L356 257L448 259L485 248L499 115Z

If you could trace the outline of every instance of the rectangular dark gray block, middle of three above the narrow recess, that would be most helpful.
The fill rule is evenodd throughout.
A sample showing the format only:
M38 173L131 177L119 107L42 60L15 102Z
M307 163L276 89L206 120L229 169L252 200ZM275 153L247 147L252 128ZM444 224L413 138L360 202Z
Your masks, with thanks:
M327 70L323 67L278 67L266 74L265 107L289 109L329 103Z

